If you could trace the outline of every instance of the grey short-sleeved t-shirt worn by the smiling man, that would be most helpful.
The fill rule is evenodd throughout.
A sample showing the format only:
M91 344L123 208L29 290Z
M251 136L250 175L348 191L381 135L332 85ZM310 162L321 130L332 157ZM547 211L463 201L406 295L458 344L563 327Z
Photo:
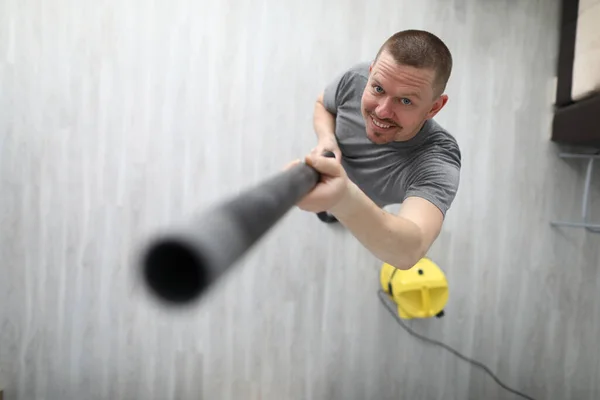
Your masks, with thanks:
M325 89L325 108L336 115L342 166L350 180L380 207L416 196L429 200L445 216L460 180L461 153L455 138L429 119L408 141L372 143L361 113L369 65L353 66Z

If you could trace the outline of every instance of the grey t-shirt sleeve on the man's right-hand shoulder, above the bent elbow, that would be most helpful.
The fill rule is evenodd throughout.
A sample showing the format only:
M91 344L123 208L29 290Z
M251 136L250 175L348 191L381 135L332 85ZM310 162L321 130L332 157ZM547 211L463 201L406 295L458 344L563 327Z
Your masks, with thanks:
M460 168L461 155L456 143L436 146L413 163L404 198L424 198L445 217L458 191Z

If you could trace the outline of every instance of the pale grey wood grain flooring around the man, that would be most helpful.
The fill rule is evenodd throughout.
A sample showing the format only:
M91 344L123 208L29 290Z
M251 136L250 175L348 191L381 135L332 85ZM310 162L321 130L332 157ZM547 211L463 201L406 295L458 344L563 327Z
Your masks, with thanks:
M0 0L0 387L31 399L513 399L399 327L380 262L293 210L201 306L169 312L136 248L315 144L337 73L406 28L453 52L437 120L463 151L411 321L536 399L600 398L600 235L549 142L558 0ZM576 129L576 127L574 127ZM600 221L600 170L592 215Z

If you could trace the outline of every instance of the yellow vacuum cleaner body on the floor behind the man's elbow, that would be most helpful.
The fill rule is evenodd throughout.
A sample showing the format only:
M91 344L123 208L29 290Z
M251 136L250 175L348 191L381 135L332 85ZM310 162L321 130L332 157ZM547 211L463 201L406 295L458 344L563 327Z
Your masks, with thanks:
M379 274L383 291L398 306L402 319L442 317L448 301L444 272L425 257L412 268L397 269L384 263Z

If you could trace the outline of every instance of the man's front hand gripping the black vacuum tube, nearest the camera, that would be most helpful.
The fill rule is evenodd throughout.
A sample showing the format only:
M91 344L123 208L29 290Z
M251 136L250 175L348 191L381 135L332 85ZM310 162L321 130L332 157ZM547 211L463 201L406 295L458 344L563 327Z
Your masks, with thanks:
M338 154L336 158L328 158L313 150L304 161L321 173L321 181L297 204L298 207L315 213L333 208L348 194L349 180Z

